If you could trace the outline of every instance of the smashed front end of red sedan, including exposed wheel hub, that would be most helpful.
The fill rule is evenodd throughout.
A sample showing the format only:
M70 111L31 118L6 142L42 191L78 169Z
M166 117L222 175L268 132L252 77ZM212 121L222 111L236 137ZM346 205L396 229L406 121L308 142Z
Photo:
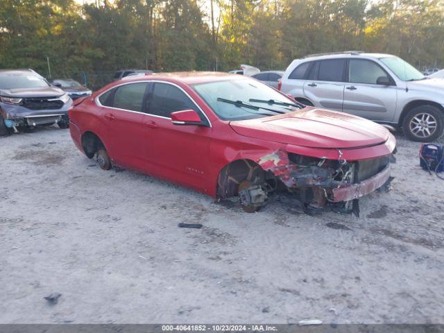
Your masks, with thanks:
M284 190L296 194L309 214L334 210L359 215L359 198L393 179L390 164L395 162L394 153L393 135L383 144L358 148L287 145L285 150L255 161L265 177L239 189L241 205L247 211L257 210L266 204L271 192Z

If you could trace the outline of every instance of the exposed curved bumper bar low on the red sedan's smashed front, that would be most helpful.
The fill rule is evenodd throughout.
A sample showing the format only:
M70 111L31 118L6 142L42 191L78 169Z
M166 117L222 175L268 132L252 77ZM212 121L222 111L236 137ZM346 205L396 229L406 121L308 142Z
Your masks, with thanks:
M366 180L356 184L344 184L339 188L332 189L332 201L339 203L341 201L349 201L361 196L366 196L371 192L382 187L390 178L390 164L388 164L381 172Z

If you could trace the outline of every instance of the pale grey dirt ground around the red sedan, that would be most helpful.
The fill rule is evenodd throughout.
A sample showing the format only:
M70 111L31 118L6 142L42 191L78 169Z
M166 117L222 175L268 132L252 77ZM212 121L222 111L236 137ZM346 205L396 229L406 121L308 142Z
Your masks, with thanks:
M444 181L419 146L398 136L358 219L102 171L68 130L0 138L0 323L444 323Z

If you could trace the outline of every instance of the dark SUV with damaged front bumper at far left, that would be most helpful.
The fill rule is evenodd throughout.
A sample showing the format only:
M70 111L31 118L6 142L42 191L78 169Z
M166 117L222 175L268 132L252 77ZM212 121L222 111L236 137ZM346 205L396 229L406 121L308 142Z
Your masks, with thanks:
M0 132L57 123L67 128L72 100L32 69L0 70Z

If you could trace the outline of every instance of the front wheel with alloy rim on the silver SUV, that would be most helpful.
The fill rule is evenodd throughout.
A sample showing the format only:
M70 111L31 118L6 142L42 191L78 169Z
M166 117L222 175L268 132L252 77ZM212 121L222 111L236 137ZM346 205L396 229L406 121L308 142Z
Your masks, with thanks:
M435 141L443 135L444 112L434 105L416 106L404 117L402 130L411 141Z

